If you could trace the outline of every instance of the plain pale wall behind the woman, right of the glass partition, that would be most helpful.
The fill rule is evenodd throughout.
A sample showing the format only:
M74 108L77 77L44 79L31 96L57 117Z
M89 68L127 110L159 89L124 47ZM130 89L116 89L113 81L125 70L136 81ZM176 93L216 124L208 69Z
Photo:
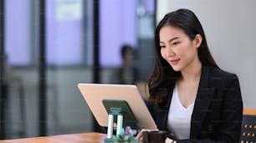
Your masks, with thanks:
M238 75L244 106L256 108L256 1L158 0L156 21L189 8L199 18L218 65Z

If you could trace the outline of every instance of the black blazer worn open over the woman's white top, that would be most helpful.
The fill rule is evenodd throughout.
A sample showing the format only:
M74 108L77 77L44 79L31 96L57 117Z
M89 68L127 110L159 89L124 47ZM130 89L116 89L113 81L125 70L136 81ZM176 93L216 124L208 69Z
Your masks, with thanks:
M171 99L172 92L166 105L168 109ZM168 111L156 110L151 105L148 108L158 129L167 131ZM217 67L202 67L192 111L190 139L177 142L238 142L242 117L243 101L238 76Z

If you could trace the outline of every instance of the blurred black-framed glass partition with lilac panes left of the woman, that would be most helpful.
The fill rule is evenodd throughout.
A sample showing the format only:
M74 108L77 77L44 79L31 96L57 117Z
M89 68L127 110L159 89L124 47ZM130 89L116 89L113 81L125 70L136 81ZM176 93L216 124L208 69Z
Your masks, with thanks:
M155 7L155 0L1 0L1 136L94 131L77 84L115 83L123 45L136 51L136 80L146 81Z

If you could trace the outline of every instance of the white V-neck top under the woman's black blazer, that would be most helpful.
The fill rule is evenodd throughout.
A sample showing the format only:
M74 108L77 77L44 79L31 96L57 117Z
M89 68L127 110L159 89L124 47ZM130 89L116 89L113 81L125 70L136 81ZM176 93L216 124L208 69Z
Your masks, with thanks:
M173 89L172 102L168 113L167 128L178 140L190 138L191 116L194 102L184 107L180 101L177 86Z

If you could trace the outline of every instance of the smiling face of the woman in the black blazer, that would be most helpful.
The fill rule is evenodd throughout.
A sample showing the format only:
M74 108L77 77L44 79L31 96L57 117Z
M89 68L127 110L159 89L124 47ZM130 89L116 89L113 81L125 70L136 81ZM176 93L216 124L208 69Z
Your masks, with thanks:
M174 71L182 72L199 62L197 49L202 42L200 35L191 40L182 29L164 26L160 29L159 38L161 57L172 66Z

